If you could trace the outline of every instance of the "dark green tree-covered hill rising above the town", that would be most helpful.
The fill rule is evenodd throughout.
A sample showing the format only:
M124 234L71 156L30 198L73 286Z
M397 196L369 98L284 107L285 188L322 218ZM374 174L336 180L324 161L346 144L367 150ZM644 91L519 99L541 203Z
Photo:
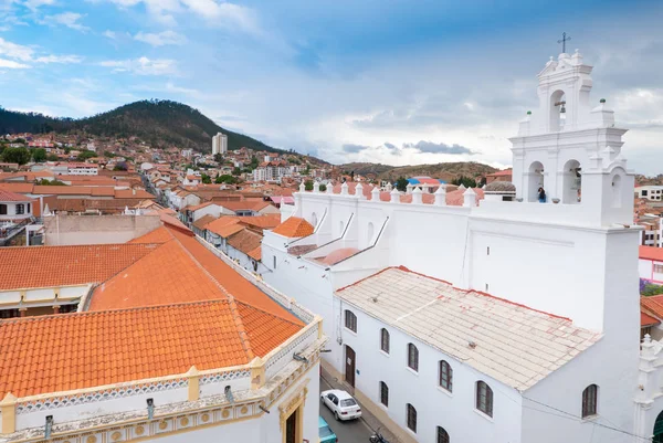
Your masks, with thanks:
M228 149L246 147L283 152L249 136L227 130L198 109L171 101L141 101L92 117L54 118L36 113L0 108L0 134L88 134L99 137L138 137L155 147L193 148L209 151L212 136L228 135Z

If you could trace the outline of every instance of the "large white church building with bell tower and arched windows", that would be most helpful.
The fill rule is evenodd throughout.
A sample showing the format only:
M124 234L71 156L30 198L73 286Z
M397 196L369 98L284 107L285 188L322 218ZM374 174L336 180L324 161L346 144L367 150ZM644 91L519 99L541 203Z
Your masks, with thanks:
M659 362L661 346L645 344L639 373L640 228L621 156L627 130L604 101L590 105L591 70L576 52L539 73L539 108L512 138L514 201L477 207L467 189L451 207L440 187L434 200L415 188L401 203L397 190L368 199L361 184L354 193L302 186L283 217L313 233L265 232L265 281L323 315L325 366L402 441L654 434L663 352Z

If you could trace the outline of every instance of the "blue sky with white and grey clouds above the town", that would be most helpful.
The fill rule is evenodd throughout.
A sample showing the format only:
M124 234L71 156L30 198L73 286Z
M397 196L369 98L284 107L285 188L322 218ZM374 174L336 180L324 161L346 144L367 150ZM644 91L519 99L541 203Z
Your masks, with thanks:
M662 22L660 0L0 0L0 105L83 117L169 98L333 162L508 166L566 31L652 175Z

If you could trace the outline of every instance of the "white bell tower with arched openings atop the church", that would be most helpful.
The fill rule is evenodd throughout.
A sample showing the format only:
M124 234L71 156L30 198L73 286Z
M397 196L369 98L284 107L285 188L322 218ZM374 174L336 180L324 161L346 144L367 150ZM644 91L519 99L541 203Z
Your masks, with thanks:
M538 74L539 107L528 112L517 137L513 183L516 198L541 204L577 204L592 225L633 222L633 173L621 156L627 129L614 127L604 99L592 107L592 66L576 50L546 63Z

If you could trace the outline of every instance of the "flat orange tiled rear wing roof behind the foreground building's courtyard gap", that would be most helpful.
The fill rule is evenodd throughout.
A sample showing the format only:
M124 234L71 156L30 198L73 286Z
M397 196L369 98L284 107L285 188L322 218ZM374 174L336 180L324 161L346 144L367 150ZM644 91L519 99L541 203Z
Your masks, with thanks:
M154 244L0 247L0 291L101 283Z

